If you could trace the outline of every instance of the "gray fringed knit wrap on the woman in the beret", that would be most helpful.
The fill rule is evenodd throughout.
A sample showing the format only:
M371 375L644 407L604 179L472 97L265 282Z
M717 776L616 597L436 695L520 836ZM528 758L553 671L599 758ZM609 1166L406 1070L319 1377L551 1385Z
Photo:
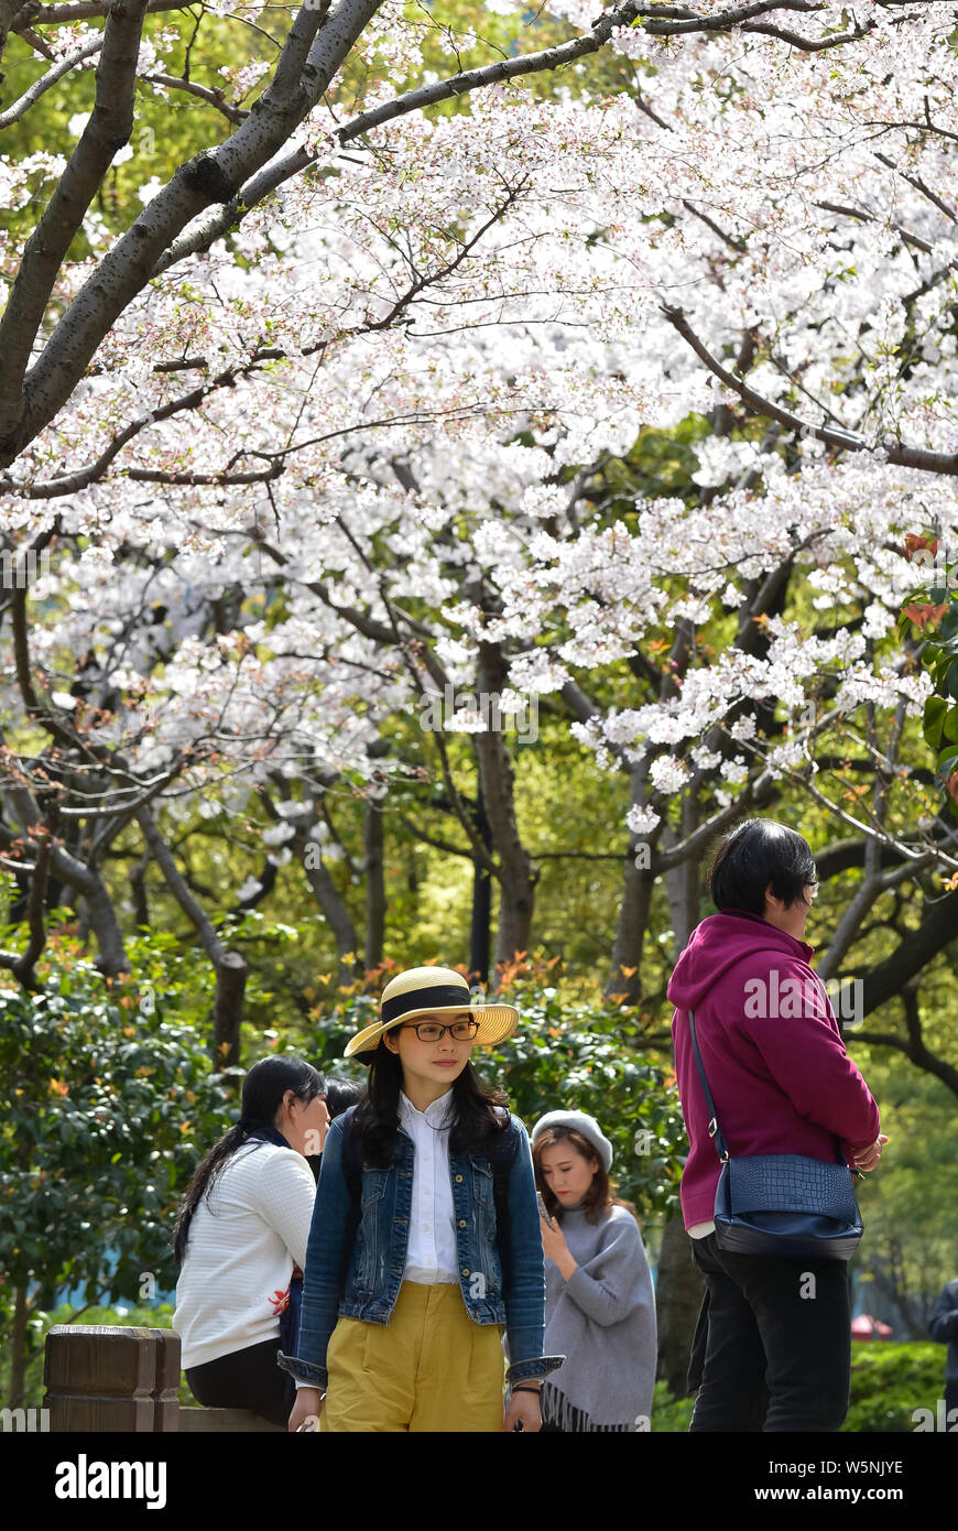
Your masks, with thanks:
M560 1415L568 1405L566 1415L582 1410L594 1425L634 1430L637 1416L652 1413L657 1361L655 1291L638 1223L624 1206L597 1223L565 1208L560 1223L578 1269L566 1281L545 1263L543 1353L566 1358L545 1387Z

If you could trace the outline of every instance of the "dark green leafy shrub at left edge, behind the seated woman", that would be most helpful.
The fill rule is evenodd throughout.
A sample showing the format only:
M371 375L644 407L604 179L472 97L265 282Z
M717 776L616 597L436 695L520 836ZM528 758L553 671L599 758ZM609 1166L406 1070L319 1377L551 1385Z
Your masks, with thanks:
M156 966L148 991L109 983L57 937L43 966L43 992L0 987L5 1346L17 1303L26 1320L12 1393L64 1289L84 1286L90 1303L171 1289L179 1199L237 1098L239 1070L213 1072L202 1032L168 1014Z

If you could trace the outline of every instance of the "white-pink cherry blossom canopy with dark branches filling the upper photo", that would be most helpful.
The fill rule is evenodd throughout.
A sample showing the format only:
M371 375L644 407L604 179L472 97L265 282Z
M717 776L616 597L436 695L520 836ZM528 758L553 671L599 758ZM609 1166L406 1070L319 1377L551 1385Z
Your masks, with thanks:
M479 694L522 687L559 697L600 764L614 756L627 770L629 828L637 841L653 836L657 859L626 863L618 987L626 968L638 975L653 879L673 874L681 945L707 836L751 792L761 801L779 767L800 766L791 721L777 720L779 733L788 729L777 755L754 743L759 729L776 732L770 698L806 710L831 668L839 715L852 701L921 704L917 675L898 683L878 668L875 677L874 649L889 629L888 579L903 576L894 539L918 522L950 527L953 217L940 122L955 55L949 6L866 11L849 24L846 8L813 3L653 6L632 24L626 8L545 54L399 96L372 87L331 135L329 118L317 122L317 86L355 38L398 75L415 72L422 38L393 12L303 11L256 109L216 150L144 188L144 211L119 237L89 213L92 190L118 149L118 101L129 106L138 75L156 75L156 44L136 52L142 17L135 24L133 12L110 14L95 37L86 15L43 15L54 32L84 20L80 38L70 32L67 67L99 51L98 96L67 165L34 156L26 179L11 171L14 197L44 170L63 168L63 179L3 318L11 472L2 487L20 548L58 550L57 573L35 597L63 599L83 583L96 602L83 611L66 596L69 620L43 635L43 654L31 649L28 594L15 589L9 608L17 704L54 750L92 752L106 772L96 854L136 821L159 857L153 801L173 807L174 793L208 784L210 767L259 776L262 792L266 778L275 787L285 752L286 769L301 769L305 746L327 778L343 766L387 778L370 764L375 717L357 727L349 684L329 684L327 671L317 678L317 643L326 663L349 632L338 672L363 675L373 713L421 700L425 681L442 690L451 678ZM575 8L565 15L585 23ZM796 15L811 31L785 24ZM15 34L17 24L26 18L14 18ZM600 47L618 60L611 96L591 100L583 87L542 100L511 84ZM9 109L14 119L57 86L66 58ZM468 115L421 115L464 90L473 92ZM70 262L81 227L90 256ZM184 375L193 375L187 386ZM626 450L641 426L667 430L692 412L713 432L698 476L710 548L724 528L718 576L695 562L669 571L657 557L663 536L692 551L686 505L644 507L638 534L626 534L583 524L580 495L568 490L568 475ZM765 423L761 439L748 436L751 419ZM722 495L733 478L739 487ZM507 517L516 496L520 513ZM811 519L810 496L820 505ZM869 508L863 517L859 507L875 499L888 516L875 521ZM47 501L58 502L52 522ZM470 539L456 551L450 517L462 502ZM445 544L439 557L436 542ZM822 600L878 597L852 619L862 631L845 623L823 638L784 622L785 586L806 548ZM834 560L869 548L865 583L849 586L851 571ZM611 599L623 556L637 583ZM253 557L263 609L283 591L282 623L272 611L266 626L246 620ZM119 568L132 583L115 579ZM739 586L727 579L735 570ZM684 582L678 602L661 586L667 573ZM549 583L552 608L531 599ZM718 666L702 668L696 628L719 594L724 609L739 605L739 637ZM458 638L447 631L453 597ZM135 617L147 602L162 614L153 660ZM441 620L424 620L422 606L441 603ZM543 641L559 622L571 622L569 632ZM637 648L650 629L663 641L657 623L675 629L664 666ZM52 652L86 655L69 689L35 678ZM603 707L569 668L624 657L646 687L626 698L638 707ZM150 689L145 674L158 663L162 684ZM77 690L92 686L89 723ZM741 718L727 717L728 697ZM738 732L716 750L725 723ZM834 713L806 735L820 739L829 723ZM637 747L637 735L652 749ZM687 753L693 744L699 759ZM868 747L880 749L877 735ZM502 958L528 939L534 867L516 830L502 736L481 729L474 749L491 853L461 793L450 796L468 850L500 879ZM664 802L716 772L724 785L710 813L663 824ZM14 785L20 831L43 825L35 787L29 772ZM820 798L814 782L806 790ZM686 816L693 796L683 799ZM86 822L80 807L63 811ZM46 833L55 874L83 891L116 971L122 940L96 854L67 860L52 825ZM881 854L885 831L872 822L862 834ZM921 870L947 848L895 841L891 853ZM222 963L171 859L159 863ZM315 882L334 911L334 890ZM349 922L340 925L344 957L357 942ZM635 981L626 992L635 997Z

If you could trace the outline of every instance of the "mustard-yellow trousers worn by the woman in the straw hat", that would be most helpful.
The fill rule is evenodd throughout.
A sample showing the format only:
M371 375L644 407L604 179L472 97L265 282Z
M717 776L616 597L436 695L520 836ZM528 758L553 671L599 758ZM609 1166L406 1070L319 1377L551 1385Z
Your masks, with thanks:
M387 1324L340 1318L320 1430L499 1431L505 1356L459 1286L402 1281Z

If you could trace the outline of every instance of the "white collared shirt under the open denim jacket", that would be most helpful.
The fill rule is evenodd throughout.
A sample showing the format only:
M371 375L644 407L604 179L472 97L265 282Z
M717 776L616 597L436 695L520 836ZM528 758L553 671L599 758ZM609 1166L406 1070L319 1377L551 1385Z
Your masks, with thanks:
M399 1092L399 1125L413 1141L413 1199L404 1281L439 1286L459 1280L456 1214L448 1168L453 1092L418 1112Z

